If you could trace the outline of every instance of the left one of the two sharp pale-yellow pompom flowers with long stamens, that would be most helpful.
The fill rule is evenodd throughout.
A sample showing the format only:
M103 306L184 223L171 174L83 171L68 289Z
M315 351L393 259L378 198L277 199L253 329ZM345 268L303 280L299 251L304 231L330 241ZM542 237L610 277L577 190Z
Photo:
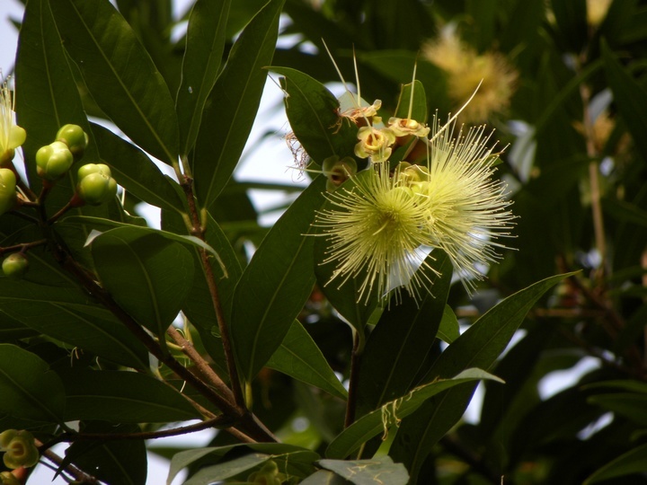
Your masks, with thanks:
M341 286L362 275L358 301L368 299L374 287L382 297L396 281L417 294L426 281L412 271L424 260L416 250L432 242L425 230L427 211L420 207L427 198L390 177L388 163L351 179L350 188L327 194L329 204L315 219L330 242L323 264L336 265L329 283L339 280Z

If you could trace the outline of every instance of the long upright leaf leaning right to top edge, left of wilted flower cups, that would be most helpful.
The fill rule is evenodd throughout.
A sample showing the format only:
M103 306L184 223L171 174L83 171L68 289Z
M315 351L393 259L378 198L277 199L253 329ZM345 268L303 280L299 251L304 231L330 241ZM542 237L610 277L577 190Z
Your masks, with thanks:
M278 37L284 0L271 0L236 40L208 97L196 140L193 176L204 207L211 207L243 153L256 117Z

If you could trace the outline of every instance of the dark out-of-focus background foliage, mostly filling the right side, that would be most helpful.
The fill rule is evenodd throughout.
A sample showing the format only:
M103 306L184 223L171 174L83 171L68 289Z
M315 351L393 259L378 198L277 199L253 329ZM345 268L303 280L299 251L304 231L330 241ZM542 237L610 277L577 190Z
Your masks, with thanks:
M232 3L225 55L263 3ZM173 18L171 0L116 4L175 93L186 19ZM464 328L501 297L581 270L529 314L492 370L507 384L482 384L482 405L439 441L419 482L647 483L647 2L288 0L281 25L275 66L338 83L325 41L350 83L357 58L362 97L385 113L414 64L441 118L483 79L473 101L483 109L463 121L496 128L505 148L497 173L518 216L516 251L472 299L452 287ZM102 118L89 95L84 108ZM249 188L231 181L212 211L242 260L266 231ZM299 318L346 372L350 331L320 293ZM340 401L270 369L259 379L255 412L286 442L316 449L340 431L329 429Z

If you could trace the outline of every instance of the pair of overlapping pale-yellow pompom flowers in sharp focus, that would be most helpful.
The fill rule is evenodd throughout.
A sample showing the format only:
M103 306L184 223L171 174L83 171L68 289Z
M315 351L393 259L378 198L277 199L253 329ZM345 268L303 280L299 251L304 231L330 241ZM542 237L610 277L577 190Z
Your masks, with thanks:
M400 287L414 296L430 290L417 270L430 248L448 253L468 291L483 278L476 265L499 258L498 238L510 235L514 216L504 184L492 179L497 156L483 127L455 139L455 124L434 118L426 166L400 163L391 173L388 162L374 163L350 177L350 188L328 194L315 220L330 241L323 263L336 265L331 282L340 286L363 278L358 301L374 287L380 297Z

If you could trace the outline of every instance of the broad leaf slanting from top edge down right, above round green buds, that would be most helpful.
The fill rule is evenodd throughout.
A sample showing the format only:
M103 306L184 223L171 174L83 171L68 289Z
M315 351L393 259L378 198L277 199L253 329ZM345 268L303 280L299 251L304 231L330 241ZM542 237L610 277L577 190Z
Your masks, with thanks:
M108 0L60 0L52 11L93 100L146 152L177 163L173 98L128 22Z

